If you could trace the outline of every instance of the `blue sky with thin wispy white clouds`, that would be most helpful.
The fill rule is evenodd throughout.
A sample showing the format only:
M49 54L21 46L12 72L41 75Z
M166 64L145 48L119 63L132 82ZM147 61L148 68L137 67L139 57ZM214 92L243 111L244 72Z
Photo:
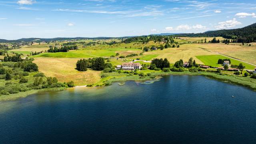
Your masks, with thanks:
M0 38L137 36L242 28L256 0L0 0Z

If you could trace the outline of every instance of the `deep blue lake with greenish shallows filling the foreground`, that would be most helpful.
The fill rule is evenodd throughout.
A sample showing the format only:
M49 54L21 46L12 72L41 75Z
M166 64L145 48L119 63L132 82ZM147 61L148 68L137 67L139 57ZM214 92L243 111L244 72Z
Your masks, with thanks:
M0 102L0 143L255 144L256 92L165 76Z

